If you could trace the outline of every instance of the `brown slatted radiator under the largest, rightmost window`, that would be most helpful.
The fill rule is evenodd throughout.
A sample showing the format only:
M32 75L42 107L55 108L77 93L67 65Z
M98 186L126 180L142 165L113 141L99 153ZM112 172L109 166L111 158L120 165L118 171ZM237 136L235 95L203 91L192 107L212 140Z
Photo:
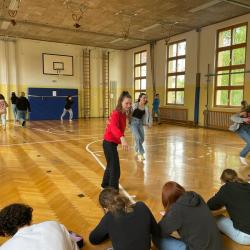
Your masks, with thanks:
M228 130L228 127L232 124L230 117L235 113L204 110L203 114L205 127Z

